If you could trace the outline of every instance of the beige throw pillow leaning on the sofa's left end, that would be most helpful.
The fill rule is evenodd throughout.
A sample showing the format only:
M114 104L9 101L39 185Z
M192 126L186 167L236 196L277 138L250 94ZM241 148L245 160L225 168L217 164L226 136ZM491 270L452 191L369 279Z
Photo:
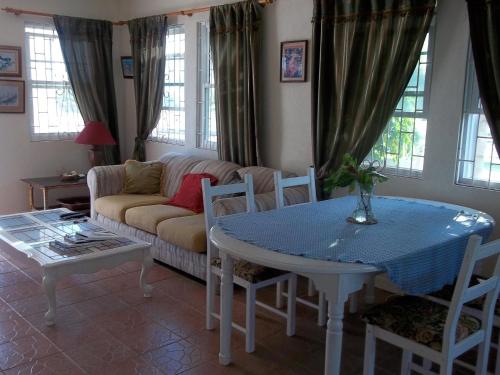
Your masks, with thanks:
M127 160L125 162L124 194L159 194L163 163Z

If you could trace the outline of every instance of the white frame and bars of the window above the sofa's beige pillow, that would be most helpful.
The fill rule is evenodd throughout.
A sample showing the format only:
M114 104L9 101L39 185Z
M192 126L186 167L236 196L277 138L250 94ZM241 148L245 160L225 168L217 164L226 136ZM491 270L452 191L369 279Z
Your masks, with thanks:
M167 58L167 49L165 48L165 58L166 58L166 62L165 62L165 82L163 84L163 97L162 97L162 106L161 106L161 112L160 112L160 118L158 120L158 123L156 124L156 126L154 127L154 129L151 131L151 133L149 134L148 136L148 141L150 142L157 142L157 143L165 143L165 144L170 144L170 145L177 145L177 146L185 146L186 145L186 26L182 23L175 23L173 25L169 25L168 26L168 31L167 31L167 36L165 38L168 38L168 33L170 33L170 30L172 29L181 29L182 30L182 33L178 33L176 32L176 34L184 34L184 55L182 57L182 59L180 58ZM166 40L165 40L165 43L166 43ZM168 64L168 61L169 60L182 60L183 63L184 63L184 69L183 69L183 79L182 79L182 83L180 82L166 82L166 76L167 76L167 64ZM167 91L167 87L182 87L183 88L183 100L182 100L182 103L184 103L184 106L183 107L168 107L168 106L164 106L164 102L165 102L165 92ZM182 139L176 139L175 137L174 138L170 138L169 137L169 134L171 133L170 131L168 132L165 132L165 135L158 135L158 127L161 125L161 116L163 115L163 112L168 112L168 111L178 111L178 112L184 112L184 124L183 124L183 127L180 128L180 132L184 134L184 136L182 137ZM175 128L168 128L168 129L174 129L174 132L175 132ZM155 131L157 132L157 134L154 134Z

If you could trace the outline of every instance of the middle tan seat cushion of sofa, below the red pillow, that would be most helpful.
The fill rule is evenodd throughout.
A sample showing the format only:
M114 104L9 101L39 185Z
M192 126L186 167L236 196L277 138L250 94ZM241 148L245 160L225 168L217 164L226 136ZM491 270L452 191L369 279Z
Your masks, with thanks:
M155 204L129 208L125 212L125 222L134 228L156 234L156 227L161 221L190 215L194 215L194 212L185 208Z

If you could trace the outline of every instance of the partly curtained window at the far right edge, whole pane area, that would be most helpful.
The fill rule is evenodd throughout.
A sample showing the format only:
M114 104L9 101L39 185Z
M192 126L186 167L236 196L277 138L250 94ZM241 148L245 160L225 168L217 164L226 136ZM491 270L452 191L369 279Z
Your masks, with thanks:
M500 190L500 158L481 106L470 46L467 59L456 182L460 185Z

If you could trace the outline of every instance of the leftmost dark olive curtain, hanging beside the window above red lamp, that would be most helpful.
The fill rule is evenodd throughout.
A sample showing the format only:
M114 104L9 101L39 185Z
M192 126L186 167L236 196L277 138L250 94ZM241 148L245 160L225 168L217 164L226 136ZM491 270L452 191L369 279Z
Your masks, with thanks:
M54 16L69 81L83 120L102 121L118 137L113 79L113 25L109 21ZM104 146L104 162L120 163L118 145Z

